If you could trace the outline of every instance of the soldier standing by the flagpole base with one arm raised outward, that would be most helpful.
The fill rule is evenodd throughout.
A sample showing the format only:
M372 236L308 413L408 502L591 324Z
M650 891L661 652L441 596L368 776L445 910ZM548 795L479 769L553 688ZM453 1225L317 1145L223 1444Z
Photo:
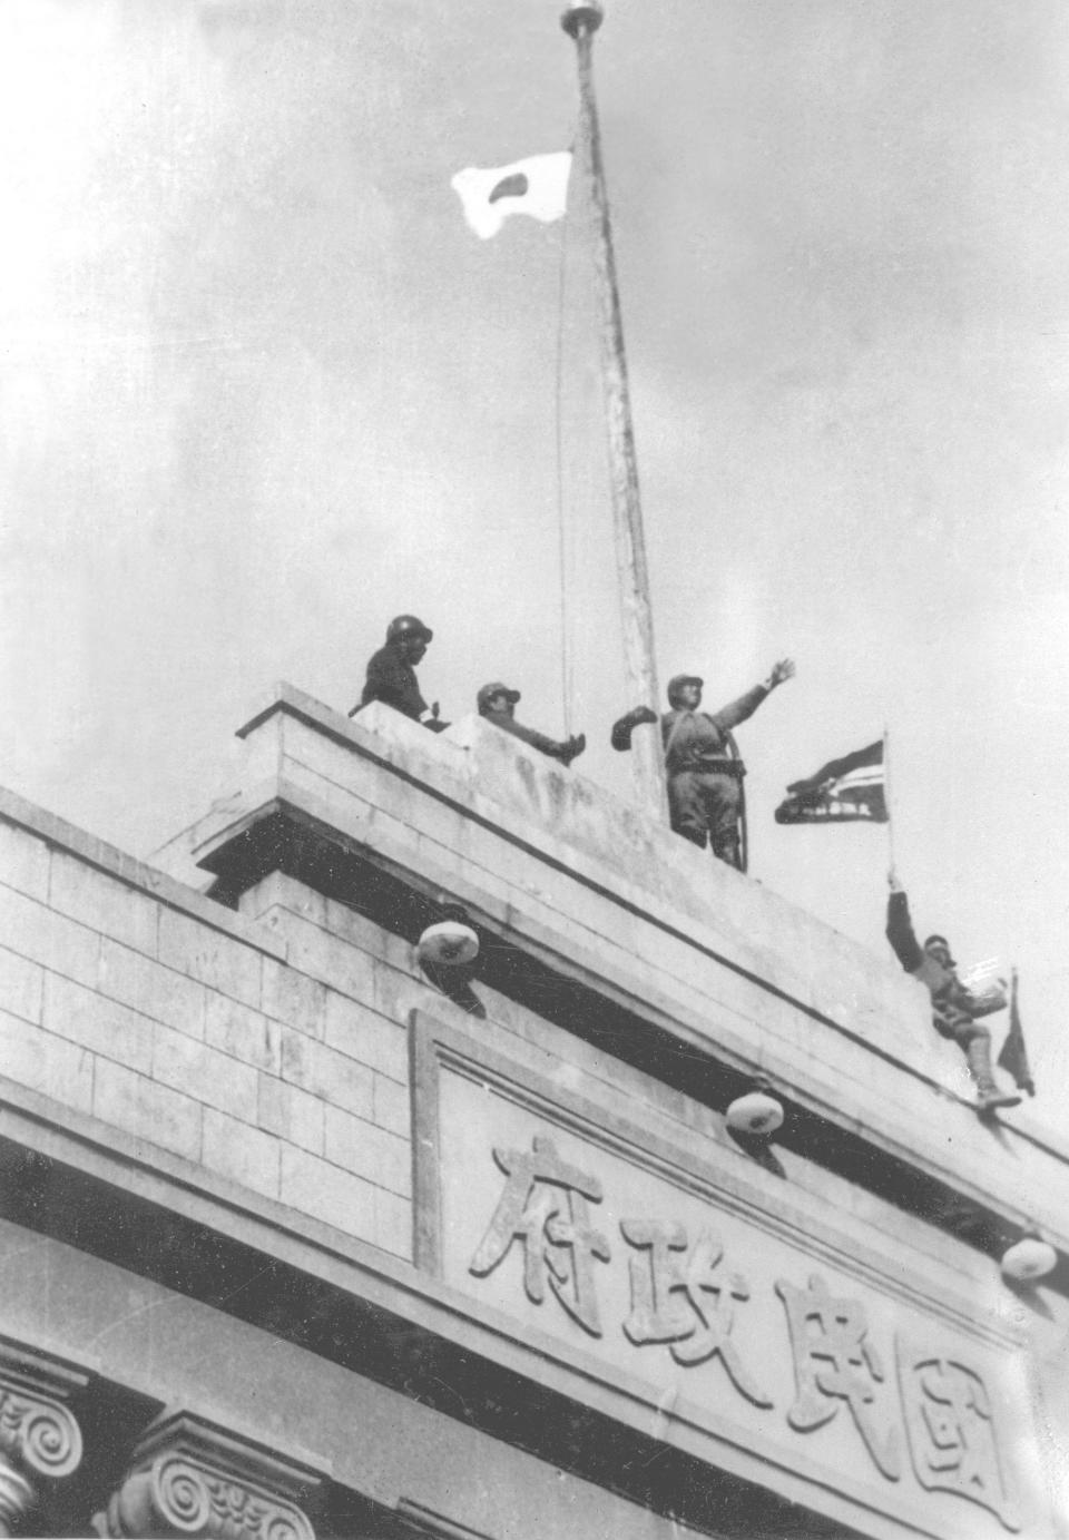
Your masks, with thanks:
M704 681L696 675L676 675L669 681L669 705L661 718L664 768L669 778L672 827L684 839L710 844L713 855L742 869L739 818L746 765L735 755L732 728L753 716L764 698L795 673L790 658L781 659L764 684L755 685L721 707L699 711ZM613 748L630 748L632 733L641 722L655 722L648 707L636 707L613 727Z

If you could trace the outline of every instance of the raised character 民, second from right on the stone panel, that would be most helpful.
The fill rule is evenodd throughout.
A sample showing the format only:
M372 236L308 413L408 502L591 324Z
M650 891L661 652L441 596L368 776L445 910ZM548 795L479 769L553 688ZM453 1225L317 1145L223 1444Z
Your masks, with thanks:
M795 1404L787 1421L798 1432L809 1432L830 1421L838 1403L853 1414L866 1448L889 1481L901 1475L896 1429L880 1438L869 1408L875 1401L873 1381L884 1378L880 1355L866 1341L869 1331L864 1306L856 1300L835 1300L818 1275L809 1289L795 1289L782 1278L776 1294L787 1309L790 1346L795 1355Z

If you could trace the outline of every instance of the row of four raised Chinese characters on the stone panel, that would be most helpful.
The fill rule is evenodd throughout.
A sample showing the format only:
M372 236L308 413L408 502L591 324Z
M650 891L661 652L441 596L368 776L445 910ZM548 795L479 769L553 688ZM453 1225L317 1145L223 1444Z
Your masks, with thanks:
M823 1272L792 1277L782 1244L753 1232L750 1250L738 1217L735 1232L727 1220L721 1230L718 1210L661 1178L632 1183L638 1214L616 1209L613 1217L599 1173L562 1153L565 1141L536 1133L530 1149L493 1149L505 1183L467 1252L467 1270L490 1278L501 1269L498 1303L508 1304L519 1281L516 1261L502 1267L516 1249L522 1291L548 1311L550 1329L564 1312L624 1369L630 1349L648 1375L679 1366L682 1394L718 1411L733 1403L738 1415L767 1418L769 1432L782 1429L787 1440L809 1445L813 1435L819 1458L856 1460L858 1478L867 1469L870 1480L900 1483L909 1451L923 1491L969 1498L1004 1528L1020 1528L990 1392L975 1363L910 1348L895 1337L886 1306L873 1306L873 1320L866 1300ZM659 1206L642 1214L641 1203L673 1194L687 1204L689 1223ZM832 1429L830 1445L821 1429Z

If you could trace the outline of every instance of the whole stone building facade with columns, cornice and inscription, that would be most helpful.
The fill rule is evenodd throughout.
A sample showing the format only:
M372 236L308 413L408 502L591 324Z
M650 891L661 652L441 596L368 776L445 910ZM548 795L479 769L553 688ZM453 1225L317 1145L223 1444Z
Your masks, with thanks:
M478 719L242 738L154 865L0 799L0 1534L1069 1532L1069 1150L920 986Z

